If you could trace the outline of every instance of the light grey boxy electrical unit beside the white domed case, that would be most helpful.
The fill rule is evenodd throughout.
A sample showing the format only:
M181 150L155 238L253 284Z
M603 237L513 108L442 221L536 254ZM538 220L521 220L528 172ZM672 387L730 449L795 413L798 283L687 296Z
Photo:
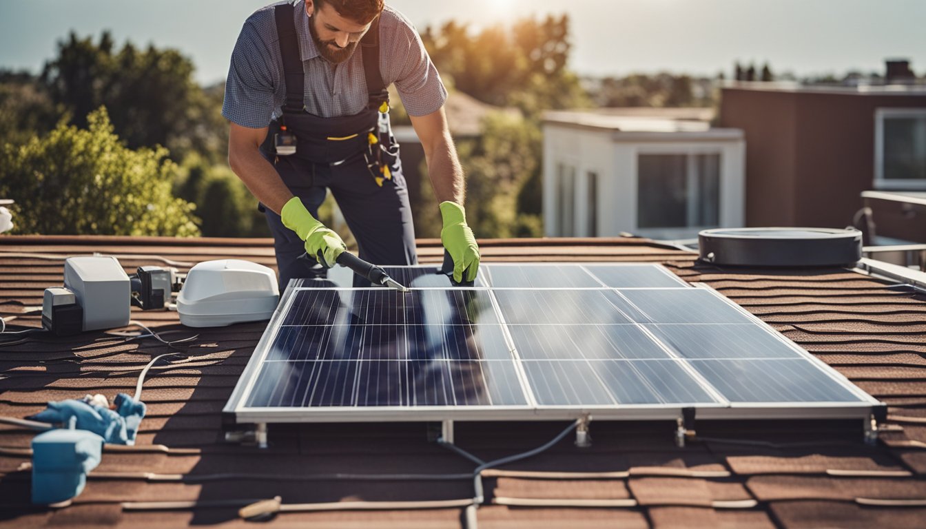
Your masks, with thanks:
M64 285L83 308L84 331L129 324L131 283L116 258L65 259Z

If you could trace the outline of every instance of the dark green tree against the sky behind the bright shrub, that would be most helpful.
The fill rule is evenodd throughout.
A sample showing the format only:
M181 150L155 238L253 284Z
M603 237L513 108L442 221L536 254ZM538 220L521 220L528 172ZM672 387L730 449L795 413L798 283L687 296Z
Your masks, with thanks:
M42 81L79 127L91 110L106 106L131 148L165 145L178 160L197 151L218 161L228 134L220 114L223 89L202 90L193 71L193 62L174 49L126 43L116 52L106 31L98 44L71 32L45 64Z

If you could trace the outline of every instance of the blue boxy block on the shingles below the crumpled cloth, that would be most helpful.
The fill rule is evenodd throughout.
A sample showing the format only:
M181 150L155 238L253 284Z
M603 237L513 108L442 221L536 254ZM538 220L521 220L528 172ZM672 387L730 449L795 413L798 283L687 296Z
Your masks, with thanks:
M32 438L32 503L74 498L100 464L103 437L85 430L50 430Z

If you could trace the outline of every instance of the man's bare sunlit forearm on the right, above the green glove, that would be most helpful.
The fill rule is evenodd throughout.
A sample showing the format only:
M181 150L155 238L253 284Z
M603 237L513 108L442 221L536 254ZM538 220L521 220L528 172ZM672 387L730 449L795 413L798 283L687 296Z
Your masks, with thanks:
M424 116L409 116L424 148L428 175L438 204L449 201L460 206L466 197L463 169L457 159L457 148L450 137L444 107Z

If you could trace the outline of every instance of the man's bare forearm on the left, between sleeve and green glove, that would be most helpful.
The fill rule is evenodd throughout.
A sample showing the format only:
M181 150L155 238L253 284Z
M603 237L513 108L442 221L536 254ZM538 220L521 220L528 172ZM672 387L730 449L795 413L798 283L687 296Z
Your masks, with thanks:
M278 215L293 194L277 170L258 150L267 137L268 127L249 129L232 122L229 132L229 165L252 195Z

